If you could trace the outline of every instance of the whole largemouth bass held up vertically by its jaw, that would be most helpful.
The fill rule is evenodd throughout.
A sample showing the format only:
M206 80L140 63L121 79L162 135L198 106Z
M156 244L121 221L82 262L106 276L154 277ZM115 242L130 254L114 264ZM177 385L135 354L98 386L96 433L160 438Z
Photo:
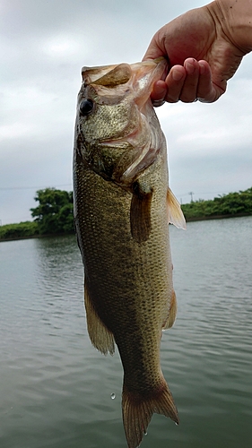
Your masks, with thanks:
M77 99L74 225L87 329L104 355L117 345L128 448L141 444L153 413L178 424L160 346L177 313L169 222L186 222L169 189L166 140L150 99L166 67L163 58L83 67Z

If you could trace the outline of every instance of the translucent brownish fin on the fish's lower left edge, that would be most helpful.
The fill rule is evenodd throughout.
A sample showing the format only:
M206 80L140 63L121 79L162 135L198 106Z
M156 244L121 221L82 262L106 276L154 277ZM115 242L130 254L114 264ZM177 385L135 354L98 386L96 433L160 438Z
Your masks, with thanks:
M113 355L115 353L113 334L109 332L108 328L104 325L104 323L100 320L99 315L96 313L91 303L86 280L84 285L84 303L86 308L88 332L92 345L96 349L100 350L100 352L104 355L107 355L108 352L110 355Z

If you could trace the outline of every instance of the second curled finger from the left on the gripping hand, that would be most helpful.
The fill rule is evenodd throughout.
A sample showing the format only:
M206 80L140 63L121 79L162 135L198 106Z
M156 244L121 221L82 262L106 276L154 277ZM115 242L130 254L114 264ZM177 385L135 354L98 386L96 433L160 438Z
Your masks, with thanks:
M182 65L174 65L166 77L167 94L165 100L169 103L176 103L186 79L186 70Z

